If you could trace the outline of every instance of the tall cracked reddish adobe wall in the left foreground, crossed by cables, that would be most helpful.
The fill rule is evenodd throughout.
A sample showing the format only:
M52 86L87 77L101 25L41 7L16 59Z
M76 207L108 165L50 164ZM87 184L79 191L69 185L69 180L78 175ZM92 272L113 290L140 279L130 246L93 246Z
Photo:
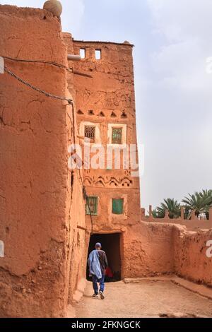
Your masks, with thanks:
M35 8L0 6L1 55L67 65L59 20ZM21 78L69 96L66 71L6 61ZM65 316L83 275L84 201L67 167L71 106L0 75L0 316ZM69 116L67 114L69 112ZM73 119L72 119L73 121Z

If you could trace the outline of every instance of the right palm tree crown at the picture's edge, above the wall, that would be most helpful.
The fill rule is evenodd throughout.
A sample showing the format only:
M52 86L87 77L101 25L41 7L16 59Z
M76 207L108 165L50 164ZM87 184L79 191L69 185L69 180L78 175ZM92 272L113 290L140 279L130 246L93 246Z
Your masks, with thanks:
M193 195L184 197L182 203L185 203L185 215L188 219L191 218L192 211L199 217L201 213L205 213L208 218L209 208L212 206L212 190L203 190L195 192Z

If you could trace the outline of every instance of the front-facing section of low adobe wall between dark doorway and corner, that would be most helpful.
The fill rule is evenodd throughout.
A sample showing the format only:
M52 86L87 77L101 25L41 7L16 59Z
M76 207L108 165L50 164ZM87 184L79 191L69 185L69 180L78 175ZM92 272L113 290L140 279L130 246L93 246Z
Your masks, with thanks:
M172 227L141 222L124 233L124 278L174 272Z

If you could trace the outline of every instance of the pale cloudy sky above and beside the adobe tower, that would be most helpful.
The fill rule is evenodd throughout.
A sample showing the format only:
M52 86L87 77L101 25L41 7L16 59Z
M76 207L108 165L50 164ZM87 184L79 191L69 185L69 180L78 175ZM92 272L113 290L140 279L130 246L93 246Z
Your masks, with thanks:
M0 4L42 8L44 1ZM212 189L211 0L64 0L74 39L134 47L141 205ZM212 68L212 66L211 66ZM141 161L141 160L140 160Z

